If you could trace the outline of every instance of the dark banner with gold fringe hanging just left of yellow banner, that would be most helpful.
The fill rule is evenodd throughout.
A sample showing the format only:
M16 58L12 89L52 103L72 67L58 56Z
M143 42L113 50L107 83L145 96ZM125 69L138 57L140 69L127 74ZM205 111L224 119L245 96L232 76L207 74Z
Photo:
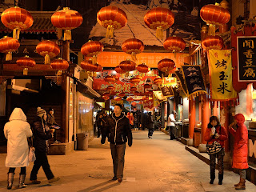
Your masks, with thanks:
M200 66L182 66L182 73L185 77L189 98L206 93L206 86L202 78Z

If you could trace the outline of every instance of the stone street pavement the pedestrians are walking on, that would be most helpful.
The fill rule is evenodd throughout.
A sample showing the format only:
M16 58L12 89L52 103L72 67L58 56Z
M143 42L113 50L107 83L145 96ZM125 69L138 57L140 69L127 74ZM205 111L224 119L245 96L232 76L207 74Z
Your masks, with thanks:
M39 185L29 185L18 191L129 191L129 192L201 192L201 191L236 191L234 183L238 182L238 174L225 170L223 185L210 185L210 167L185 150L178 141L170 141L169 136L161 131L155 131L153 139L147 138L147 131L133 131L134 144L126 147L124 179L122 183L110 181L112 160L110 146L100 144L100 138L90 142L88 150L74 151L70 154L48 156L51 169L61 180L48 184L46 176L39 170ZM6 173L4 166L6 154L0 154L0 191L6 190ZM27 167L28 182L33 164ZM14 186L18 185L16 170ZM256 191L256 186L246 182L246 190Z

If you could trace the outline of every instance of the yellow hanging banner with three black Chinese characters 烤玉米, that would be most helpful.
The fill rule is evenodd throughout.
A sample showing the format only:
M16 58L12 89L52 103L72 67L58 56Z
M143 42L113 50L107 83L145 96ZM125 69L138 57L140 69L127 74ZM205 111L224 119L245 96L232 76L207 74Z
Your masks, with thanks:
M209 50L210 99L228 101L238 98L232 85L231 50Z

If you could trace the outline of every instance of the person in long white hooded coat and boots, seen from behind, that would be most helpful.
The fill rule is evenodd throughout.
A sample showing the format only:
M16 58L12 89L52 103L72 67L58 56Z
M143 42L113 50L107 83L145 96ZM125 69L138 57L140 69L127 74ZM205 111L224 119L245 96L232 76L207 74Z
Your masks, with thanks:
M7 189L10 190L14 182L14 171L16 167L21 167L19 174L18 187L26 187L24 184L26 178L26 166L29 165L29 146L27 138L32 136L30 124L26 122L26 115L22 109L15 108L6 122L4 134L7 139L7 157L6 167L9 168L7 178Z

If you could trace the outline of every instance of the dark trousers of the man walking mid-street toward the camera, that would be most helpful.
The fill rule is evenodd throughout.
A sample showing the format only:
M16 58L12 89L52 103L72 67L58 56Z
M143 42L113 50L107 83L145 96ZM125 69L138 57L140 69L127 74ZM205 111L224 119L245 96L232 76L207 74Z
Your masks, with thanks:
M110 143L111 155L113 159L114 176L123 177L123 167L125 165L126 144L115 145Z

